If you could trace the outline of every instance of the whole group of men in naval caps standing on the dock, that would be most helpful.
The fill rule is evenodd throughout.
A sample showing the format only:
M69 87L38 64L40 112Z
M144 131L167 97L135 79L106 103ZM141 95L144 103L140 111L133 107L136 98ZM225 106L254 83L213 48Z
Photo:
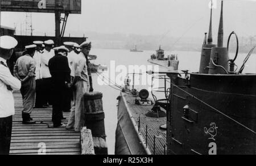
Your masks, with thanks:
M91 42L81 45L64 42L54 47L52 40L34 41L27 45L14 66L14 76L6 65L18 42L10 36L0 37L0 154L9 154L12 116L14 115L13 90L20 90L23 99L22 123L35 124L30 114L33 108L52 105L52 122L49 127L66 127L80 131L84 126L83 95L92 92L89 66ZM61 122L63 112L70 111L68 124Z

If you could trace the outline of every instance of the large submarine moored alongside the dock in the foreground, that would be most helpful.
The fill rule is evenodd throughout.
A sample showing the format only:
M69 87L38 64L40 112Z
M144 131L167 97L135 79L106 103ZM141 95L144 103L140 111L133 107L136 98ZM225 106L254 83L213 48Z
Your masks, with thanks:
M237 52L230 59L232 35L237 39ZM223 36L221 1L218 42L215 45L212 40L211 10L208 39L205 35L198 73L168 69L151 72L165 80L162 91L166 94L166 99L156 100L151 106L144 90L139 94L141 105L137 93L121 92L118 97L116 154L256 154L256 74L243 73L255 46L242 66L235 70L238 37L232 32L225 47ZM170 83L169 88L166 82ZM153 114L157 117L150 117ZM159 127L164 122L166 133Z

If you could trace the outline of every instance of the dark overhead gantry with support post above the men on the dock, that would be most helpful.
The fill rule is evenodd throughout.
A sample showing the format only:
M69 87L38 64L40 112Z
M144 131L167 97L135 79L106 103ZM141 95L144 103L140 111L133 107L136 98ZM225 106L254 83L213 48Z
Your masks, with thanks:
M60 45L63 40L69 14L81 14L81 0L0 0L1 11L26 12L26 35L33 36L31 12L55 14L55 42ZM64 14L64 18L61 18ZM62 22L62 27L61 27Z

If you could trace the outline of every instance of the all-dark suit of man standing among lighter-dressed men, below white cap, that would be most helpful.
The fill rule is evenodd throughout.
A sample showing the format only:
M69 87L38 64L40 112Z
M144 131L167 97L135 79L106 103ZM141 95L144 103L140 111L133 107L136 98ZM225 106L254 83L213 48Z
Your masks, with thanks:
M71 70L68 65L68 58L61 54L56 54L49 59L49 71L52 75L53 83L53 107L52 107L52 122L53 126L61 125L62 112L65 101L66 83L71 82Z

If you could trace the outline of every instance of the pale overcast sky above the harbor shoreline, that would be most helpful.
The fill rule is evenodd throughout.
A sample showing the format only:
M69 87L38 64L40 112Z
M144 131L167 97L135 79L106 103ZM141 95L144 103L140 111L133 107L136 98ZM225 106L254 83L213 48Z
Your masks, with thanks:
M214 1L214 0L213 0ZM82 14L70 15L66 32L130 33L203 37L208 31L209 0L82 0ZM213 9L213 34L220 20L220 0ZM256 1L224 1L224 33L238 36L256 35ZM32 13L35 35L54 34L54 14ZM14 27L19 35L25 22L22 12L2 12L1 24ZM36 34L37 33L37 34ZM66 34L67 34L66 33ZM216 36L213 36L216 38Z

